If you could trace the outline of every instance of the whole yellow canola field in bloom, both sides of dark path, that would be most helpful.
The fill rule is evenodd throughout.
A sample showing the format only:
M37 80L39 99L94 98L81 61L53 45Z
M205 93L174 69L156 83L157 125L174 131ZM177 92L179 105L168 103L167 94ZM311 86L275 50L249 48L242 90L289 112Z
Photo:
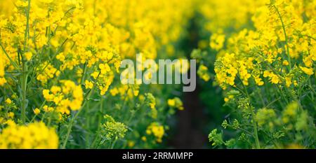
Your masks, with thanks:
M0 148L176 148L187 103L200 148L315 148L315 17L315 0L0 0ZM122 83L137 54L195 59L198 100Z

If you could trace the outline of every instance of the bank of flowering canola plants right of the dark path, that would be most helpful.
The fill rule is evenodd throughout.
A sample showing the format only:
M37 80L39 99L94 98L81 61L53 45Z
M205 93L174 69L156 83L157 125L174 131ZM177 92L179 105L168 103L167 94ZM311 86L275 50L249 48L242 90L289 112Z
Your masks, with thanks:
M205 5L199 7L199 13L204 16L203 28L211 34L209 52L216 53L215 84L224 90L225 106L236 112L230 118L237 118L225 120L222 126L241 132L238 142L253 138L253 142L244 143L249 148L280 148L289 142L305 146L315 137L315 132L308 131L315 130L310 108L315 105L316 1L202 3ZM201 56L194 57L202 66L213 64L211 57L197 54ZM262 132L272 135L275 142L265 141L269 136ZM239 148L237 139L223 138L216 130L210 134L213 145Z

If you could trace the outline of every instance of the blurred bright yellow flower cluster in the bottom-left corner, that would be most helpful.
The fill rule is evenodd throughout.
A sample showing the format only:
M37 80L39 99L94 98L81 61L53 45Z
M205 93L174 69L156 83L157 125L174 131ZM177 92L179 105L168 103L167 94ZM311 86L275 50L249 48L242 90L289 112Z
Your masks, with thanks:
M54 129L46 127L44 122L28 125L10 123L0 134L0 148L46 149L58 148L58 136Z

